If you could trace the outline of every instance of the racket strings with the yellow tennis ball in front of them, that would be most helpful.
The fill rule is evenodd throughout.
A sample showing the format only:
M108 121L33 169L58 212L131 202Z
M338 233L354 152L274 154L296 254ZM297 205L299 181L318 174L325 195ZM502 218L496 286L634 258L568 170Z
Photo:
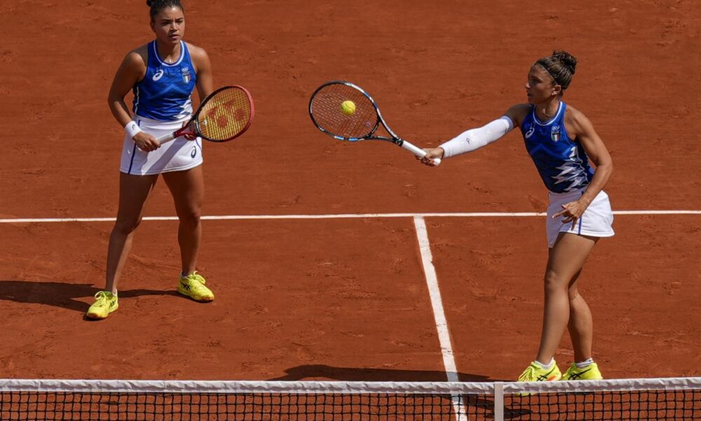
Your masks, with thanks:
M353 101L355 112L344 114L341 104ZM364 138L377 126L377 114L372 101L358 89L342 83L321 88L312 98L311 114L317 126L343 138Z

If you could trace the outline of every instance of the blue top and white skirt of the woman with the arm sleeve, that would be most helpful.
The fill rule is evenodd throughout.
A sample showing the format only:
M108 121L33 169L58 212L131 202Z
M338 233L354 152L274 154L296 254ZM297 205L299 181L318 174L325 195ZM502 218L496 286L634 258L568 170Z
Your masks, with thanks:
M597 194L584 214L573 225L564 223L564 217L552 219L562 205L582 196L594 177L589 157L577 139L570 139L565 128L567 105L560 101L557 113L548 121L540 121L535 107L521 123L521 133L526 150L536 164L540 178L550 192L547 208L547 243L552 247L559 232L606 237L613 236L613 212L608 195L603 190Z

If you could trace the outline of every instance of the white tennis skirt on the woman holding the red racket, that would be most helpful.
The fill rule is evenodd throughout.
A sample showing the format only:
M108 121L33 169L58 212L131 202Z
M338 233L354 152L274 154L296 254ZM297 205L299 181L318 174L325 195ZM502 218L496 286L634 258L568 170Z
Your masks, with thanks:
M187 119L177 121L158 121L142 116L134 116L134 121L142 131L156 138L172 133L182 127ZM153 152L144 152L136 147L128 135L124 136L122 158L119 171L135 175L151 175L184 171L202 163L202 139L186 140L182 136L164 143Z

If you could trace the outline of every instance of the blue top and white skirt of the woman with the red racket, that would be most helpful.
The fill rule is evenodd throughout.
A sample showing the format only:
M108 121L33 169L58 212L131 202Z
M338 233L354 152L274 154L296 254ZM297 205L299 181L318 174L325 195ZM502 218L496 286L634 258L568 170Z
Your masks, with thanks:
M180 57L169 64L161 60L156 41L147 46L148 62L144 79L133 88L134 121L144 132L158 138L181 128L192 115L192 91L197 74L187 45L180 41ZM149 175L184 171L203 162L202 140L177 138L153 152L144 152L125 135L119 171Z

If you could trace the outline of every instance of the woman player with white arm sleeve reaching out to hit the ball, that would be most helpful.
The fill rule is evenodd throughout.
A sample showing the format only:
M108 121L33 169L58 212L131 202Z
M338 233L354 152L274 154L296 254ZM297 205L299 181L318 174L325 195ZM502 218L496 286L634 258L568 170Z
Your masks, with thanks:
M589 119L561 100L576 64L565 51L536 61L525 86L528 104L515 105L501 119L466 131L440 147L425 149L428 154L421 159L433 166L433 158L472 152L517 126L550 191L543 330L536 360L519 376L522 382L603 378L592 359L592 314L578 293L577 280L599 238L613 236L613 213L603 190L613 162ZM565 328L569 329L575 362L562 375L554 354Z

